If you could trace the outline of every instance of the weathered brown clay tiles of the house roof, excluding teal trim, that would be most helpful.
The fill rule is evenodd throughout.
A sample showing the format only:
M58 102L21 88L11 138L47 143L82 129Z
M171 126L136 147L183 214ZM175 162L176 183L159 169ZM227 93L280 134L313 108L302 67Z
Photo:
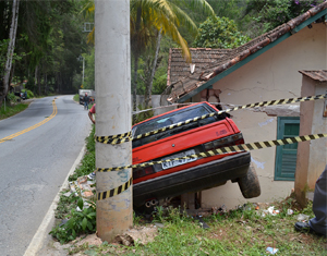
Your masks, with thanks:
M312 8L302 15L235 49L191 48L192 63L195 64L193 74L191 74L190 64L182 58L181 49L170 49L167 86L171 87L171 94L168 100L177 101L325 9L327 9L327 2Z

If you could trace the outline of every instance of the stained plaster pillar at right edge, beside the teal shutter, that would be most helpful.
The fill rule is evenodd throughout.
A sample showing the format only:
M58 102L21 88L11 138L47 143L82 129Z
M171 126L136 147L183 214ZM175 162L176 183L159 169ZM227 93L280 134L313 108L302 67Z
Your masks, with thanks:
M303 76L301 95L326 94L327 82L317 82ZM324 117L325 100L301 102L300 135L327 133L327 117ZM324 150L322 150L324 149ZM307 191L313 191L316 180L327 163L327 139L301 143L298 147L295 195L305 205Z

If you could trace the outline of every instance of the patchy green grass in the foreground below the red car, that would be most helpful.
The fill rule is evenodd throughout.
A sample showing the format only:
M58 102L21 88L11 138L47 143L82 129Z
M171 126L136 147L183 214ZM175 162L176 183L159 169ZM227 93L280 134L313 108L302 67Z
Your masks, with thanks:
M160 208L154 215L158 228L155 241L146 245L135 242L134 246L102 243L100 246L83 244L72 246L70 254L84 255L266 255L267 247L278 248L276 255L326 255L327 239L311 233L294 231L296 216L305 212L313 217L312 204L298 209L294 198L275 202L277 216L262 216L263 209L255 205L233 209L205 218L209 229L203 229L194 218L170 208L168 214ZM292 208L293 215L287 209ZM138 217L140 218L140 217ZM134 221L135 223L136 221ZM140 224L140 219L138 222Z

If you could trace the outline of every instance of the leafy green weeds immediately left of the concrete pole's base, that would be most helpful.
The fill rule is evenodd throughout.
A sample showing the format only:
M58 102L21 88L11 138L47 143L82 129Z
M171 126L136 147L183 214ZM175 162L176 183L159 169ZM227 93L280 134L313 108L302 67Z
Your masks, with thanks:
M73 241L80 234L93 233L96 231L96 206L94 202L88 202L89 207L84 207L82 197L77 199L77 206L66 216L69 220L64 224L52 228L50 234L59 240L61 244Z

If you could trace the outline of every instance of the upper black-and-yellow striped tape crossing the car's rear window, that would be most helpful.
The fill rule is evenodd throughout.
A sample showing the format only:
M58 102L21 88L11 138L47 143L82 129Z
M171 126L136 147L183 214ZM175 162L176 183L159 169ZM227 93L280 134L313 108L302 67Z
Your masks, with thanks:
M210 117L218 115L218 114L226 113L226 112L235 111L235 110L239 110L239 109L249 109L249 108L256 108L256 107L294 103L294 102L300 102L300 101L310 101L310 100L317 100L317 99L324 99L324 98L327 98L327 94L307 96L307 97L299 97L299 98L269 100L269 101L262 101L262 102L256 102L256 103L249 103L249 105L234 107L234 108L231 108L231 109L220 110L218 112L203 114L203 115L196 117L194 119L189 119L186 121L174 123L174 124L168 125L168 126L162 127L162 129L158 129L158 130L154 130L154 131L148 132L148 133L140 134L135 137L132 137L131 132L128 132L128 133L111 135L111 136L95 136L95 139L96 139L96 142L104 143L104 144L118 145L118 144L122 144L122 143L125 143L125 142L131 142L131 141L134 142L134 141L137 141L137 139L143 138L143 137L147 137L147 136L150 136L150 135L154 135L154 134L157 134L157 133L162 133L162 132L166 132L168 130L192 123L192 122L196 122L198 120L203 120L203 119L210 118Z

